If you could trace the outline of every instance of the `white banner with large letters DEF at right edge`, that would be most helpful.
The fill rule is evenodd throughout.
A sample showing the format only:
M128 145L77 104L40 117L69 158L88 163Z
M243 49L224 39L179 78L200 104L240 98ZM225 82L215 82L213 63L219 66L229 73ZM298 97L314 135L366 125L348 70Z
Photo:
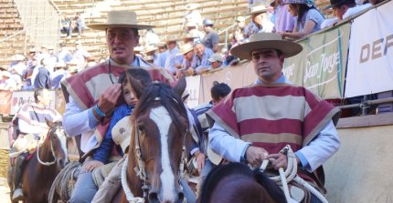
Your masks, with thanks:
M345 97L393 89L393 1L355 18L351 26Z

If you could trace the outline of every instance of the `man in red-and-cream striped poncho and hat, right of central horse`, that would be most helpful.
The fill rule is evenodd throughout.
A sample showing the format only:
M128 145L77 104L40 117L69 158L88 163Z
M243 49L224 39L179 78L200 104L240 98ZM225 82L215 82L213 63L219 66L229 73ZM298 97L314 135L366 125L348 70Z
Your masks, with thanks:
M207 113L215 121L208 136L209 146L229 161L253 167L272 158L271 172L276 172L290 166L280 153L290 145L300 166L299 176L324 192L320 179L312 173L340 146L334 125L340 110L306 88L291 85L283 76L284 59L302 50L300 44L272 33L255 34L249 43L231 50L232 55L251 60L258 81L233 90ZM312 195L312 202L320 201Z

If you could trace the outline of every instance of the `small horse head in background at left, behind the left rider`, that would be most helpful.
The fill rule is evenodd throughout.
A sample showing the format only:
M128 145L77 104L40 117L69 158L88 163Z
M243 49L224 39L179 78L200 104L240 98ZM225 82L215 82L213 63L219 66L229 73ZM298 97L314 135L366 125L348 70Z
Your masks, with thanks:
M61 121L47 121L49 127L47 141L49 141L50 150L59 169L69 163L67 153L67 137Z

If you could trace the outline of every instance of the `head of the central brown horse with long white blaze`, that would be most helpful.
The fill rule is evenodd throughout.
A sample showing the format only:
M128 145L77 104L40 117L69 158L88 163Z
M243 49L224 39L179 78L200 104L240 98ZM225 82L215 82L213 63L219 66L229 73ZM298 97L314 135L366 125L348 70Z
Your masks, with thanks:
M183 202L184 194L179 178L184 168L189 121L181 99L186 89L182 78L172 89L165 84L143 87L139 81L128 77L139 102L133 110L128 161L123 171L122 201L141 197L153 202ZM136 171L136 172L135 172Z

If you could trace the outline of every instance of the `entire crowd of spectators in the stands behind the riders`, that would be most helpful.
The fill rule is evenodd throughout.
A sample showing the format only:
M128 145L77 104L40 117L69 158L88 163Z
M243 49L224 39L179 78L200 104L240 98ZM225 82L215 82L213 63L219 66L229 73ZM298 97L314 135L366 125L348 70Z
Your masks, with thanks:
M198 11L198 5L192 3L186 5L182 37L166 36L160 40L153 29L148 29L141 37L141 45L135 48L135 53L155 66L166 68L174 76L194 76L238 64L241 58L231 56L229 50L247 43L253 34L275 32L290 40L300 39L336 25L380 1L370 1L369 4L359 0L330 0L331 4L324 8L333 9L335 17L330 19L324 18L313 0L249 2L249 14L235 18L236 25L229 36L228 47L219 48L215 22L204 18ZM81 36L84 26L80 13L72 19L64 15L59 30L66 34L65 37L71 37L73 31L78 31L78 36ZM104 60L92 59L82 48L80 40L75 42L72 50L61 43L58 52L54 51L53 46L41 46L37 51L31 48L27 57L13 56L10 66L0 67L0 89L58 88L60 80Z

